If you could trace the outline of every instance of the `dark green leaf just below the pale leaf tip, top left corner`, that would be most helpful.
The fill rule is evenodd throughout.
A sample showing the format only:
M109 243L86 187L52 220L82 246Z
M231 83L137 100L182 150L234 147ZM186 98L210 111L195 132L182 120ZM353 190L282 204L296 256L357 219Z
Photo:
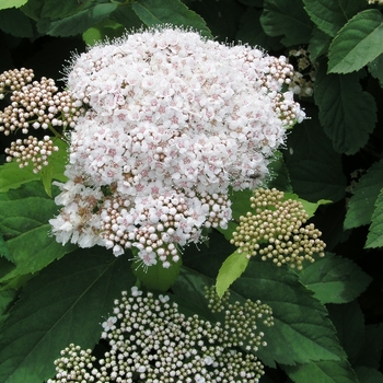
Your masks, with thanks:
M14 8L0 12L0 28L15 37L33 38L35 35L31 19Z

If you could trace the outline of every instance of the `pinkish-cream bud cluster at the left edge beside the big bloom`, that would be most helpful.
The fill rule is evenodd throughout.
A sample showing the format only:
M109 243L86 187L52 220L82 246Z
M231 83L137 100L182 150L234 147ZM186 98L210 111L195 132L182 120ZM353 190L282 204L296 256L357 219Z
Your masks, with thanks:
M31 128L40 128L62 137L56 129L73 128L77 118L84 113L82 103L73 101L68 92L58 92L54 80L42 78L33 81L33 70L25 68L0 74L0 100L10 94L10 105L0 111L0 131L5 136L16 131L27 135ZM57 150L49 136L43 140L28 136L12 142L5 153L8 162L15 159L20 167L32 163L37 173Z

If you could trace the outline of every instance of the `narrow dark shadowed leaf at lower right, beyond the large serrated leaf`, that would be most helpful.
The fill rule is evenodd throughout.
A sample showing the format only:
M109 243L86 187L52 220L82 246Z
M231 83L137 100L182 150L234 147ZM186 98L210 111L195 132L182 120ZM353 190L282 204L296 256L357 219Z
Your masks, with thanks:
M364 338L364 316L357 301L346 304L328 304L332 320L341 347L351 364L357 359Z

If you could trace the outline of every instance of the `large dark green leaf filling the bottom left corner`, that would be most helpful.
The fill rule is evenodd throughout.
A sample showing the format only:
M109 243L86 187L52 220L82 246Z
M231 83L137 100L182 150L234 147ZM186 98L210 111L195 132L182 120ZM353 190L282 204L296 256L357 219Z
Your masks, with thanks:
M40 383L70 343L93 348L114 299L132 286L126 256L100 247L51 264L23 290L2 327L0 381Z

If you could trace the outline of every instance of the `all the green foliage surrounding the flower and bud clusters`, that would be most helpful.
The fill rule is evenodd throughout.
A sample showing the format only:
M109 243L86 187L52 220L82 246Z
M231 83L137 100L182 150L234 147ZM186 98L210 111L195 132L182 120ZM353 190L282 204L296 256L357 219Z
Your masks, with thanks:
M227 230L207 230L205 243L187 246L171 266L173 274L154 266L147 274L131 252L114 257L97 246L62 246L49 234L59 193L51 181L66 181L65 144L43 174L1 156L0 381L42 383L70 343L102 347L100 324L114 299L142 283L208 321L220 316L209 310L205 286L216 286L220 297L230 289L241 303L268 304L274 326L256 353L266 365L260 382L383 382L382 7L367 0L7 0L0 72L33 67L37 77L60 79L65 60L85 44L160 24L258 45L287 56L301 73L293 85L307 119L289 132L264 186L303 204L326 254L303 270L248 259L230 240L251 211L252 192L231 190ZM9 139L2 138L4 148Z

